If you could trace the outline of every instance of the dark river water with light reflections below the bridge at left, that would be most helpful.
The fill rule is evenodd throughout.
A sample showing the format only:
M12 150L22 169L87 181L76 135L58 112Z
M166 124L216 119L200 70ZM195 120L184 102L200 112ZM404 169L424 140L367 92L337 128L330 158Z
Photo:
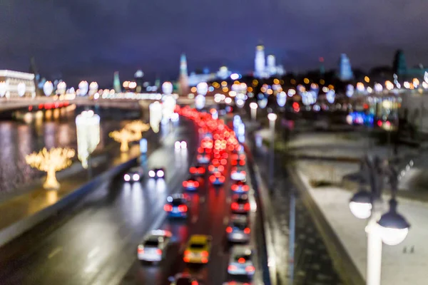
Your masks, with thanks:
M26 165L25 156L44 147L71 147L77 150L76 115L84 108L67 108L29 113L32 120L0 120L0 195L29 185L44 175ZM141 113L116 108L92 108L100 115L101 150L113 142L108 133L123 127L126 120L141 118ZM41 112L41 111L39 111ZM118 145L119 146L119 145Z

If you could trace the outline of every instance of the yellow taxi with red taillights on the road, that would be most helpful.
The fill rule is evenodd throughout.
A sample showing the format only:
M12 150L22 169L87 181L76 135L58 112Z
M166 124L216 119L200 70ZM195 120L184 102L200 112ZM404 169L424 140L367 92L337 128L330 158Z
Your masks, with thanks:
M186 263L206 264L210 259L211 236L193 234L190 236L187 247L183 254Z

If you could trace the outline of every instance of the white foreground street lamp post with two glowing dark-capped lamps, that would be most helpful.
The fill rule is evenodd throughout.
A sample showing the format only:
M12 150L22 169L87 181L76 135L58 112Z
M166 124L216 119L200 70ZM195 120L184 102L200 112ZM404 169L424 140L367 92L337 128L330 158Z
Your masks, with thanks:
M397 172L392 165L382 163L378 157L366 159L362 172L367 169L370 180L368 192L363 187L350 200L352 214L359 219L367 219L367 285L380 285L382 268L382 241L396 245L402 242L409 232L410 224L397 213ZM389 178L391 199L389 211L382 214L382 190L384 176Z

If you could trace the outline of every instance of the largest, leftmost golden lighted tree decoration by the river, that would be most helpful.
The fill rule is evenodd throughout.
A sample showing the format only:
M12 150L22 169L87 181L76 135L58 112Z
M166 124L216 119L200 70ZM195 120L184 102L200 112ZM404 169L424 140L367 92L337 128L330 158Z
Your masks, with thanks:
M75 155L75 151L70 148L53 147L46 150L46 147L39 151L26 155L25 160L31 167L46 172L46 181L44 189L58 190L59 182L56 180L56 172L66 169L71 165L71 158Z

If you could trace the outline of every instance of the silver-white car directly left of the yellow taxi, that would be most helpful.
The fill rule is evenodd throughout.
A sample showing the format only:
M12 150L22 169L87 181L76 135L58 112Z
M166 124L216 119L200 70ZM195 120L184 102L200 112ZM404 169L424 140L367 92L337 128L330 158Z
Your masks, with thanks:
M171 232L155 229L138 244L137 256L141 261L161 261L172 237Z

